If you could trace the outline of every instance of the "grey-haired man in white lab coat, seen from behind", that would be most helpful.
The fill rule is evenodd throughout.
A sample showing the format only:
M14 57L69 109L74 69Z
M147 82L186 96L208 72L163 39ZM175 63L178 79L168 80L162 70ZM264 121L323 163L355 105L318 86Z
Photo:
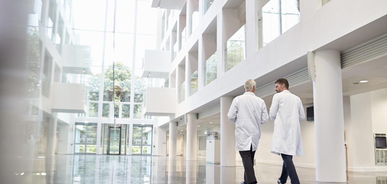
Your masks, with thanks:
M261 124L265 124L269 115L266 104L255 96L256 83L249 79L245 82L245 93L235 97L228 118L235 124L235 150L239 151L245 168L245 181L241 184L255 184L254 155L261 137Z

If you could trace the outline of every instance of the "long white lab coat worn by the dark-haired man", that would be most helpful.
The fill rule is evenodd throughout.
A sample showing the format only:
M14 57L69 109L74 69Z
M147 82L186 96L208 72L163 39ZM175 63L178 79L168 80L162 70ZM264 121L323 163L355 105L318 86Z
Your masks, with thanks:
M274 120L271 152L303 156L300 122L305 118L299 97L283 90L273 97L270 118Z

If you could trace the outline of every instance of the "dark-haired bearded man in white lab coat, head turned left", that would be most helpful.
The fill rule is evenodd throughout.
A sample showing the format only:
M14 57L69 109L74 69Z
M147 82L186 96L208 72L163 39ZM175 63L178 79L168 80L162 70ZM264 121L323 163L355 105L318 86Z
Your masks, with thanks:
M270 107L270 118L274 119L271 152L284 161L277 183L286 183L289 176L291 184L300 184L292 159L293 155L303 156L300 122L305 118L304 107L301 99L289 92L288 80L280 78L274 83L277 94Z

